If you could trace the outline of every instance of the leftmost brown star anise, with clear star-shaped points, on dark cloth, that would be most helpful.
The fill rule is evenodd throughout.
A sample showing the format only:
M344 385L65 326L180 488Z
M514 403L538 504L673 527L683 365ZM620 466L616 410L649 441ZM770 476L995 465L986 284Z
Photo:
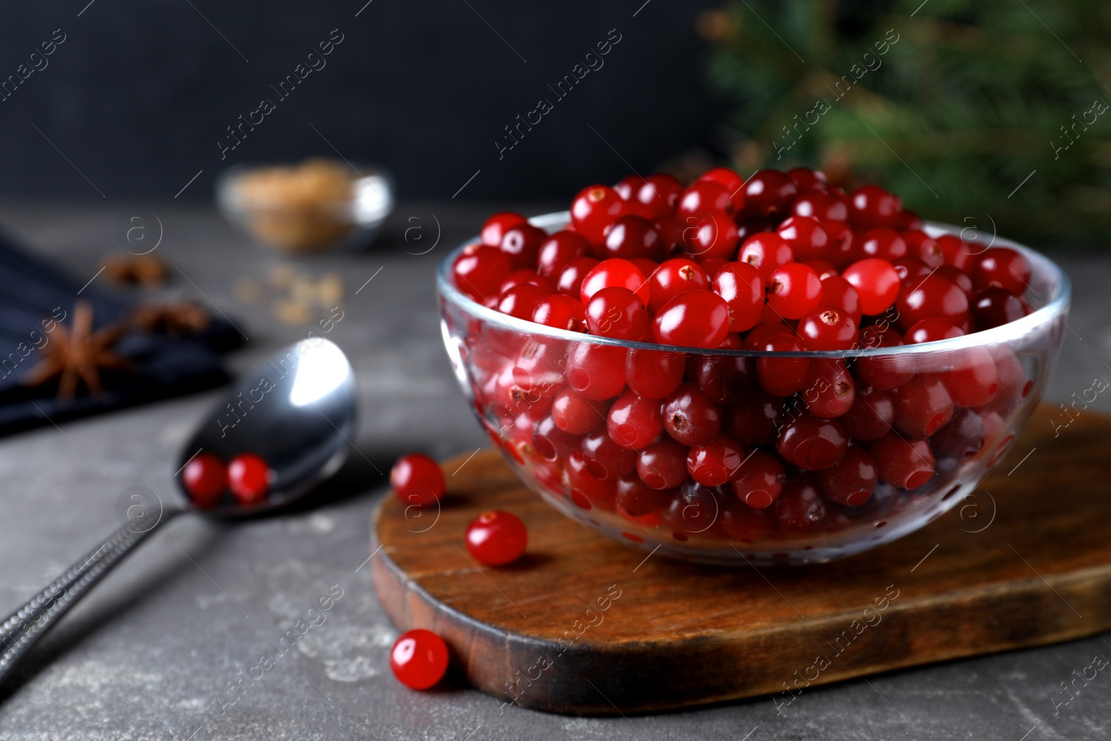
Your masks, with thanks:
M46 357L27 371L21 381L23 385L42 385L59 377L58 398L72 399L77 395L80 382L84 382L90 394L103 391L101 369L130 367L130 361L111 350L123 337L123 328L109 324L93 331L92 313L91 303L78 301L73 307L73 323L70 328L59 322L47 332L49 340L42 347Z

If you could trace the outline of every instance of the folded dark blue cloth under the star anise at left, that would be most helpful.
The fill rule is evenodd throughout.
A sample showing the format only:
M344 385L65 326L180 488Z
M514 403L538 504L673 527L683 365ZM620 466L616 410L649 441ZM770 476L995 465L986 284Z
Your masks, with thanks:
M54 266L23 252L0 233L0 434L63 419L82 417L156 399L190 393L228 381L220 353L238 347L239 332L214 316L209 328L191 337L130 332L113 351L131 361L127 371L101 369L104 391L87 395L80 384L76 399L58 399L57 378L39 387L21 379L46 353L43 320L63 316L72 326L73 307L93 307L93 327L120 321L134 302L81 284ZM49 327L49 323L46 324Z

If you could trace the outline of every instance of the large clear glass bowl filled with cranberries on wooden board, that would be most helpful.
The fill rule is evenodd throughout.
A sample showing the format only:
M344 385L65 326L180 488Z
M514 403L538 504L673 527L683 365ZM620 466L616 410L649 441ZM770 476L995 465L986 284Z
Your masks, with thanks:
M568 213L530 221L556 231ZM927 231L959 230L929 224ZM978 234L981 244L989 238ZM677 559L724 565L822 562L895 540L957 505L1003 458L1041 399L1061 347L1069 280L1038 252L1002 239L995 243L1020 250L1030 261L1027 298L1033 311L1009 324L937 342L770 353L662 347L553 329L488 309L458 291L451 266L466 244L439 269L441 329L459 383L490 439L521 480L563 514L619 542ZM805 394L812 389L788 398L767 394L752 371L770 359L810 368L843 361L854 384L854 404L871 402L872 424L864 423L869 415L863 409L851 425L862 437L849 434L844 419L818 432L798 422L810 417ZM871 497L862 503L834 501L823 493L830 490L830 470L791 465L784 467L779 498L760 509L744 503L731 483L707 487L690 478L644 495L639 471L651 478L652 459L644 463L644 457L613 442L608 430L620 437L620 425L607 424L607 409L627 389L628 372L643 388L650 369L677 363L685 368L684 382L701 383L720 402L722 429L745 455L739 470L745 471L755 451L764 461L778 458L777 443L784 440L797 445L795 461L824 465L830 450L835 455L843 447L837 440L841 434L851 443L849 450L871 451L879 461ZM998 383L984 401L991 387L974 381L990 375L989 366ZM865 392L869 385L885 388ZM593 397L599 410L594 430L572 435L554 427L552 400L567 387ZM954 404L950 421L939 422L943 415L934 411L937 399L949 389L968 405ZM898 412L899 432L883 433L884 424L878 428L875 420L889 419L891 409ZM878 431L882 437L875 439ZM658 484L667 482L662 474L657 479ZM633 490L640 493L630 494ZM763 504L761 499L755 503Z

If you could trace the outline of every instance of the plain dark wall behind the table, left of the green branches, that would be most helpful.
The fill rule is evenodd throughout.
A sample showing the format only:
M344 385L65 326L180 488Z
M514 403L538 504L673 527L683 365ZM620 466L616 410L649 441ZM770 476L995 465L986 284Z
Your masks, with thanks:
M4 3L0 80L67 38L0 102L0 196L172 198L203 169L181 198L208 199L222 167L334 156L324 137L386 164L403 198L451 197L478 170L460 198L568 198L712 139L694 17L715 3L633 17L643 1L373 0L358 17L367 0ZM337 28L327 67L278 102L270 86ZM604 66L557 101L548 86L610 29ZM277 110L221 161L226 127L264 97ZM499 161L502 127L541 97L554 110Z

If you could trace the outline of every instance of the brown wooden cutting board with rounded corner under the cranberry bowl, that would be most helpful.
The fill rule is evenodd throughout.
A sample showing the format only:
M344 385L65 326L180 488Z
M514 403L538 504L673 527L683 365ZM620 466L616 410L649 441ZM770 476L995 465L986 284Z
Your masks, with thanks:
M559 514L496 451L448 461L439 512L383 498L374 587L400 630L448 642L468 682L574 714L772 694L1111 630L1111 419L1039 409L995 471L927 528L812 567L723 569L627 548ZM989 495L990 493L990 495ZM526 555L479 568L488 509Z

